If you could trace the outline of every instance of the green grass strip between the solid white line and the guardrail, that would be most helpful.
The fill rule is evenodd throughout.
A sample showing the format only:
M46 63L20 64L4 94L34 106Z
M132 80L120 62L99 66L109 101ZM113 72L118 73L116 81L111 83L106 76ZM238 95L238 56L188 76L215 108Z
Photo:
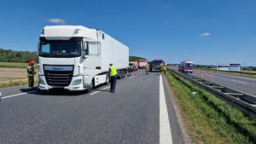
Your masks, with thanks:
M193 143L256 143L255 118L168 72L166 79Z

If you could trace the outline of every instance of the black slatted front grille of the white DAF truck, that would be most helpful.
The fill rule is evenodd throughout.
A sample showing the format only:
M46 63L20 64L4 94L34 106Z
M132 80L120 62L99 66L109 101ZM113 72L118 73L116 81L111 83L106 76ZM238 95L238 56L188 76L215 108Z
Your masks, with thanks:
M66 87L71 83L73 71L44 70L44 77L49 86Z

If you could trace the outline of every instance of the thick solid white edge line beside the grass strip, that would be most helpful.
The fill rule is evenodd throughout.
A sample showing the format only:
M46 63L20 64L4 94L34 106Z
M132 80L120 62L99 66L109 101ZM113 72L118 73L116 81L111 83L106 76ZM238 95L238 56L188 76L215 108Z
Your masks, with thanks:
M172 144L171 126L166 106L166 96L160 75L160 144Z

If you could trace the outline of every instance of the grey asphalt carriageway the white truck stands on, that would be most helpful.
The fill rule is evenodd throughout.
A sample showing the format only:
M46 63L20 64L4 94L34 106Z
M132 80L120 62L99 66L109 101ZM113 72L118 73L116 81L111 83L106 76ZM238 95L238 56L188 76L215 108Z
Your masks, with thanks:
M160 143L162 76L136 73L118 80L115 93L108 91L109 85L88 94L15 95L27 86L0 89L0 143ZM172 143L184 143L166 79L162 81Z

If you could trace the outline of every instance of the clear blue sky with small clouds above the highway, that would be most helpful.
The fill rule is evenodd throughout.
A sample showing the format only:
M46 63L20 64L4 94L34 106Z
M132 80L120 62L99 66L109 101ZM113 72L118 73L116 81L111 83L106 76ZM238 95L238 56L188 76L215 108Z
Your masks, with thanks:
M44 26L74 25L148 60L256 66L255 0L3 0L0 19L0 49L36 51Z

